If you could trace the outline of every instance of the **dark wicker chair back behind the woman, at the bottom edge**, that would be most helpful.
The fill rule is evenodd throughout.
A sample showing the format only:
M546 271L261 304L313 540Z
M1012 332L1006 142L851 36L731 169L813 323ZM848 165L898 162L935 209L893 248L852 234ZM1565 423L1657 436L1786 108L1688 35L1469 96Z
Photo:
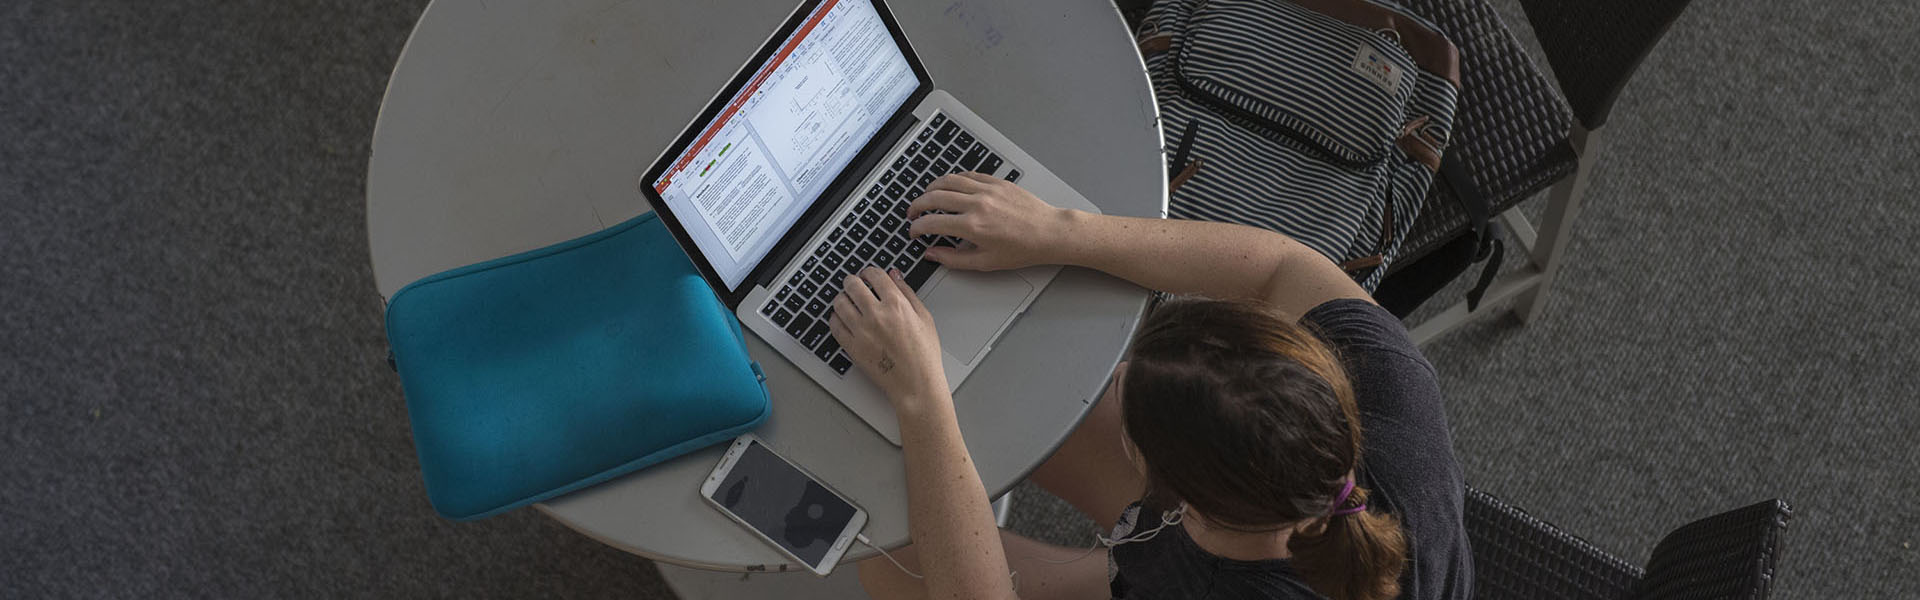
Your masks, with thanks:
M1786 502L1766 500L1688 523L1661 538L1642 569L1469 488L1475 598L1761 600L1772 592L1791 515Z

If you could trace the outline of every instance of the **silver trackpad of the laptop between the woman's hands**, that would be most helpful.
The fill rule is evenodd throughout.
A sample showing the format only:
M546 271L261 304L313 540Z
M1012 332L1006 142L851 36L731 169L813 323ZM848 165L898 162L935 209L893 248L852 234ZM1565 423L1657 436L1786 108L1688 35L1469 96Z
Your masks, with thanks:
M948 269L922 300L941 333L941 350L972 365L1027 294L1033 294L1033 285L1016 273Z

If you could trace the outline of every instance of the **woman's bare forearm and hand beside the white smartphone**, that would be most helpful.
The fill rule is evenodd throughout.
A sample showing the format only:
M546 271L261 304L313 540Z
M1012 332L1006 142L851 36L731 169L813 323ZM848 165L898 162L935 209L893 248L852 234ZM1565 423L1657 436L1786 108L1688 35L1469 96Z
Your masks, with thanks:
M1014 598L987 487L960 438L933 315L899 271L847 277L833 338L893 402L906 456L906 525L927 598Z

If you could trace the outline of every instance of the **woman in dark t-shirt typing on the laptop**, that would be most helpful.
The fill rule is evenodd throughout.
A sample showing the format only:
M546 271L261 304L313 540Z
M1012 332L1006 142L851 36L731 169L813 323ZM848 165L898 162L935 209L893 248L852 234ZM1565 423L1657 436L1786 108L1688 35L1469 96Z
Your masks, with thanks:
M1112 527L1089 552L995 529L931 315L899 273L849 277L833 337L899 412L916 540L899 567L860 563L872 596L1471 596L1432 367L1323 256L1250 227L1058 210L977 173L935 181L908 215L970 242L927 250L948 267L1083 265L1223 300L1160 306L1033 473Z

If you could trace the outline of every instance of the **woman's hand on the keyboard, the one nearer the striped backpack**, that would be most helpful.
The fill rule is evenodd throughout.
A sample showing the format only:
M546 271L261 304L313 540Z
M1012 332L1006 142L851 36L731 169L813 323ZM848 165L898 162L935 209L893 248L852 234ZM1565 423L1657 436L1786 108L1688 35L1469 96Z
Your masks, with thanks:
M939 213L929 213L939 212ZM1054 208L1012 181L985 173L952 173L927 185L906 210L908 229L966 240L960 248L933 246L927 258L956 269L1000 271L1058 263L1073 212Z

